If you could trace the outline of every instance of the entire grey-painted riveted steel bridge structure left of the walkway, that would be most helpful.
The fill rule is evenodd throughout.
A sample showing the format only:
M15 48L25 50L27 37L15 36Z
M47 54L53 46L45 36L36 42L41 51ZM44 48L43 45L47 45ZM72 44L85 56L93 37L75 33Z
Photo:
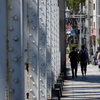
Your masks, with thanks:
M47 100L61 72L58 0L0 2L0 100Z

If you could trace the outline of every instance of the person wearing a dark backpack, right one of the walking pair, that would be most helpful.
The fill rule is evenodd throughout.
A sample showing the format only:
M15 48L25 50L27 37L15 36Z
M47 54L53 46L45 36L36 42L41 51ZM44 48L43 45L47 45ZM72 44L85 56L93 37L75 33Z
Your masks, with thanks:
M79 61L81 66L82 78L86 78L87 63L89 64L89 55L87 50L85 50L84 45L81 46L81 50L79 51Z

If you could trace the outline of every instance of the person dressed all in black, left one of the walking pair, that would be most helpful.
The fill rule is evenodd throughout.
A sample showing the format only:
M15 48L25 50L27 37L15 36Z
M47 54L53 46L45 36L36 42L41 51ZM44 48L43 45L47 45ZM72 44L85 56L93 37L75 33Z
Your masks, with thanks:
M69 53L69 58L71 62L72 78L77 78L78 53L75 50L75 47L72 47L72 51Z

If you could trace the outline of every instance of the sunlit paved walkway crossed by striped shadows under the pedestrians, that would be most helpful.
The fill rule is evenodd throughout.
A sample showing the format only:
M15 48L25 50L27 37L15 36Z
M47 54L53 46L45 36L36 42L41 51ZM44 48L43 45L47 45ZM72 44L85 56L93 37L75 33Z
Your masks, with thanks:
M100 100L100 71L98 66L87 66L87 77L82 79L80 66L78 77L72 79L70 66L67 68L61 100Z

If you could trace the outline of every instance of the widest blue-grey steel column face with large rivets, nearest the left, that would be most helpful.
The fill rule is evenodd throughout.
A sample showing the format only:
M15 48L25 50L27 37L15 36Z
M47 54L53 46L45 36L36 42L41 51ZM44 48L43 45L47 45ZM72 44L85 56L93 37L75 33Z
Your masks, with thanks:
M22 2L7 0L7 82L9 100L22 100Z

